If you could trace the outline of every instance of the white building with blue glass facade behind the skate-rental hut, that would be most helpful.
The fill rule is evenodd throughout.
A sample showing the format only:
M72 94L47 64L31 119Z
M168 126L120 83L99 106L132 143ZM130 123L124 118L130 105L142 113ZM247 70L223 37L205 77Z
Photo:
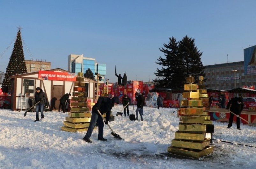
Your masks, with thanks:
M76 74L78 72L85 73L88 68L93 74L106 75L106 64L97 63L96 59L84 57L84 54L70 54L68 56L68 71Z

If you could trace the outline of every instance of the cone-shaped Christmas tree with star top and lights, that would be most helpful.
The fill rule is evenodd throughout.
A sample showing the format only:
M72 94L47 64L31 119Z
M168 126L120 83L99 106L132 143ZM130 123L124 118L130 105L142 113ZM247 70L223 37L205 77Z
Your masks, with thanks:
M6 68L6 73L4 76L4 81L2 88L8 87L8 90L11 91L11 83L8 80L10 76L16 74L27 73L25 57L23 52L22 40L21 40L21 32L18 30L16 41L11 53L11 57Z

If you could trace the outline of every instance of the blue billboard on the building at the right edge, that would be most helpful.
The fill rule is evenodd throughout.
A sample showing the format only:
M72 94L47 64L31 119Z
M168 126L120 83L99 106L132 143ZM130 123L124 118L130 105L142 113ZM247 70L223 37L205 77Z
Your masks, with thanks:
M245 75L256 73L256 45L244 49Z

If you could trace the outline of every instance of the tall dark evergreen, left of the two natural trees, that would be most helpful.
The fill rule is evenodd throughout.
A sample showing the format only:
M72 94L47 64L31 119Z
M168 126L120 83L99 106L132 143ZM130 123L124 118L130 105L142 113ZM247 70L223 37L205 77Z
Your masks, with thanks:
M183 58L179 57L176 39L172 37L169 40L168 44L164 44L164 48L159 49L164 53L166 59L162 57L157 59L159 62L156 63L162 65L162 68L161 70L157 68L157 73L154 73L158 77L158 80L154 80L154 82L157 82L157 87L177 89L181 88L185 79Z

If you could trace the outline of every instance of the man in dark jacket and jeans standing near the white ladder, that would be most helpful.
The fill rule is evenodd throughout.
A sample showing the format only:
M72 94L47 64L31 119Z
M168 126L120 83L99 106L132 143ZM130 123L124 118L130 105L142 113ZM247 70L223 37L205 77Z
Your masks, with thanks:
M34 122L39 121L39 110L41 112L41 118L44 118L44 104L47 102L47 98L43 90L39 87L36 88L35 92L35 104L39 102L36 105L36 120Z

